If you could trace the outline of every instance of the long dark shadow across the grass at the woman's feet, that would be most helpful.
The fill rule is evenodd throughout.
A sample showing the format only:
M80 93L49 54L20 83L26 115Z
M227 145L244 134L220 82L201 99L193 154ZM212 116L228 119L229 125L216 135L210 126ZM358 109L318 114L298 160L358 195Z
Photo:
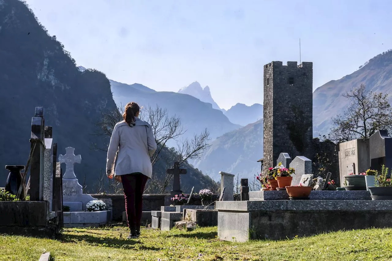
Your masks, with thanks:
M127 236L127 235L125 235ZM140 250L161 250L161 248L154 246L143 246L139 239L119 239L110 237L95 237L90 235L62 235L60 238L62 243L79 243L85 241L94 246L106 246L121 249L133 249L137 248Z

